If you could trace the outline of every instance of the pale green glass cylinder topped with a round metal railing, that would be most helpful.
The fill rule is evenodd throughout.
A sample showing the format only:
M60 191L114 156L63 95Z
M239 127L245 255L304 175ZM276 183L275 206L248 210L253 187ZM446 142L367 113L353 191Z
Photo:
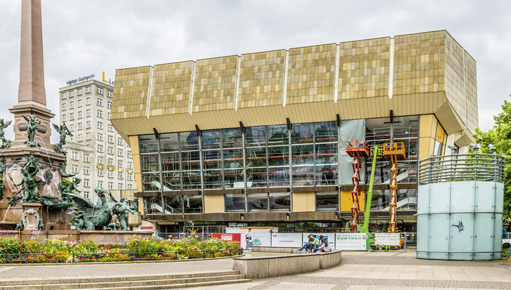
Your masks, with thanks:
M430 157L419 173L417 258L500 259L504 158Z

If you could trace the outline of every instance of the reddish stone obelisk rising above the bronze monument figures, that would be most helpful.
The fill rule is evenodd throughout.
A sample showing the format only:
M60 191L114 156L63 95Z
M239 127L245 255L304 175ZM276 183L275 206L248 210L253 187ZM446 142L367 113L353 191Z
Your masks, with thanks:
M20 131L20 125L27 124L22 115L34 115L41 121L36 136L50 143L50 119L55 114L46 107L41 0L22 0L21 3L20 87L18 104L10 111L14 114L15 141L27 140L27 132Z

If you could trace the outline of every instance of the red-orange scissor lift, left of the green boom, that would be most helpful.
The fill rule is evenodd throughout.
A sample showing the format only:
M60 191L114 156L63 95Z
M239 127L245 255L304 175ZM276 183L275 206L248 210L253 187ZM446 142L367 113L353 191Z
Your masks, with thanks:
M352 223L351 223L351 232L357 232L357 226L359 225L359 211L360 211L360 166L361 166L361 157L369 156L369 146L364 139L351 139L346 140L346 153L353 157L353 190L352 190Z

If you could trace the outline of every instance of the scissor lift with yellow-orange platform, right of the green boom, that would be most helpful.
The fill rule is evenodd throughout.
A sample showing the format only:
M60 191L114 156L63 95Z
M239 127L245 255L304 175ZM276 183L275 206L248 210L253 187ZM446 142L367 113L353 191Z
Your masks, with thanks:
M383 144L383 156L390 161L390 227L389 232L396 232L397 206L397 160L406 159L403 142Z

